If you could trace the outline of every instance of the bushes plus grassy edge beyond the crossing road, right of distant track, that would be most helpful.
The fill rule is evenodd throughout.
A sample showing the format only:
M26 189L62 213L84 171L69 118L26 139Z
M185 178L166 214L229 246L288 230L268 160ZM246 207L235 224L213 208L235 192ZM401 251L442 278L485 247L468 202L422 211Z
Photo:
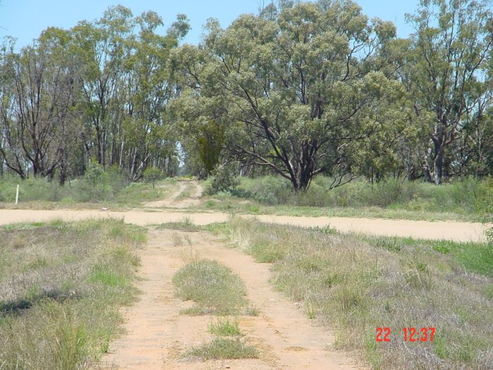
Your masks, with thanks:
M398 179L373 185L355 180L329 190L331 178L319 176L306 192L293 192L281 177L241 178L235 189L211 194L202 209L290 216L353 216L483 221L493 210L493 180L466 178L440 186ZM212 191L213 192L213 191Z

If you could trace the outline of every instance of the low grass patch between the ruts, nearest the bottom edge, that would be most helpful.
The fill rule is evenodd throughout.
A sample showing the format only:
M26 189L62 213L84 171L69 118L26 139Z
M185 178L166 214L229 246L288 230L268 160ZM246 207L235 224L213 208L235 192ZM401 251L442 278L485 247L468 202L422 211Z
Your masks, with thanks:
M256 359L258 351L254 346L248 345L246 340L239 338L216 338L211 343L205 343L199 347L185 352L187 359Z

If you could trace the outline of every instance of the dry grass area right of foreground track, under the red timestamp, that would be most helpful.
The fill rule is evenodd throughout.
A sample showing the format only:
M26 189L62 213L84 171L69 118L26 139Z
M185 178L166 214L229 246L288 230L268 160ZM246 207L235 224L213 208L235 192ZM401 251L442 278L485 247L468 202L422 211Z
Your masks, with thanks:
M242 219L227 235L257 261L273 262L275 288L336 328L337 347L358 350L373 369L493 367L493 264L485 245ZM381 327L391 328L390 342L376 341ZM402 328L410 327L435 327L435 338L405 342Z

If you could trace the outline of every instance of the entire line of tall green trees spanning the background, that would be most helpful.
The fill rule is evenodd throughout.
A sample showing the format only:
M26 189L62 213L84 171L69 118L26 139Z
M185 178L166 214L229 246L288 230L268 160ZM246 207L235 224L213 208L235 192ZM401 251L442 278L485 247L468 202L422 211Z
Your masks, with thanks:
M267 171L304 190L364 176L436 184L493 172L490 1L422 0L399 39L352 1L282 0L199 45L185 16L109 8L0 56L4 167L63 183L89 161L131 180L147 167Z

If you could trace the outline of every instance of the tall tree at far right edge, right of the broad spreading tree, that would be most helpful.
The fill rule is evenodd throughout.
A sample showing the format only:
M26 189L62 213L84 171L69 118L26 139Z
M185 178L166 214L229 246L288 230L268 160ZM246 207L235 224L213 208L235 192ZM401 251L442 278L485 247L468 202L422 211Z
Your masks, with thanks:
M416 30L407 66L416 112L433 118L423 169L439 184L465 149L457 144L467 123L491 99L491 1L422 0L407 18Z

